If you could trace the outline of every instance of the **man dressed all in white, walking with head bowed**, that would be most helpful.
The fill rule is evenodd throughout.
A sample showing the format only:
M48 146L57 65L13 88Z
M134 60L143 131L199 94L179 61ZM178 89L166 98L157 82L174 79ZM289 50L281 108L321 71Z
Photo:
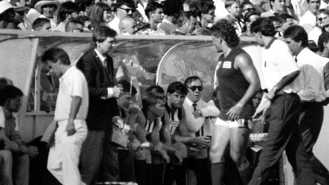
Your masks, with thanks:
M48 170L65 185L85 184L81 181L78 164L81 145L87 136L88 87L83 73L70 66L67 53L51 48L42 61L59 77L55 117L55 144L48 156Z

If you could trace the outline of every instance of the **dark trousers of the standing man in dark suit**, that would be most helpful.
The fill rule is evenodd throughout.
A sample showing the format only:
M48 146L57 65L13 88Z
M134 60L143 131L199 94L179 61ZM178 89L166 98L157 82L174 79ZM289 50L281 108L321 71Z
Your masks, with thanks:
M88 130L79 162L81 179L88 185L119 180L118 150L110 142L110 134L110 131Z

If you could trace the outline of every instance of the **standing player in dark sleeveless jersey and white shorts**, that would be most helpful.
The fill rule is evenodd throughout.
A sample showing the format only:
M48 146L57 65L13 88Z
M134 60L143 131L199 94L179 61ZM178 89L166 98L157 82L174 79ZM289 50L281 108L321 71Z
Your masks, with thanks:
M211 28L217 52L223 52L216 71L219 86L220 115L213 130L210 159L212 182L221 184L224 155L229 152L243 184L248 184L252 171L245 151L249 142L255 107L252 99L260 90L258 73L251 57L240 47L235 28L226 20Z

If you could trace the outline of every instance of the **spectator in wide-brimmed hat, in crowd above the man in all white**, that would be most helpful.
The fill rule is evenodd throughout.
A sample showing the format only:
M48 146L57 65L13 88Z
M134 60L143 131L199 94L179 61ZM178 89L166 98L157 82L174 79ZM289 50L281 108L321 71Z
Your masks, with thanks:
M60 5L61 3L57 0L44 0L37 2L34 9L41 14L39 18L49 19L52 30L55 30L57 26L57 16L54 14Z

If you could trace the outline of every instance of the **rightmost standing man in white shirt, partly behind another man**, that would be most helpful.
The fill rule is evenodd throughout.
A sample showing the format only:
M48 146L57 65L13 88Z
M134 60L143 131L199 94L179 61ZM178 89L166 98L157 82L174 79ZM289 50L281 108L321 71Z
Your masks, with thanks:
M320 184L329 184L329 172L314 156L313 146L320 134L323 122L323 101L325 100L322 57L307 48L308 38L303 27L294 25L283 33L284 41L296 56L301 71L298 78L302 82L302 90L298 96L302 101L300 129L303 143L310 159L314 176Z

